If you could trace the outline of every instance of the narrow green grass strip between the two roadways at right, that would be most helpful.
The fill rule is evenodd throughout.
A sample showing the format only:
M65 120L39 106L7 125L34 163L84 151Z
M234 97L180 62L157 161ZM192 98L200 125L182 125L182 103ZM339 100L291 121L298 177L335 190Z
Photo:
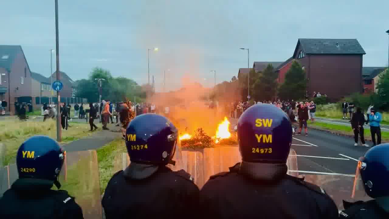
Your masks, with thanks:
M332 131L336 132L339 134L346 134L346 135L351 135L354 136L354 132L352 131L351 125L346 126L346 125L336 125L336 124L329 124L325 122L308 122L308 127L313 127L317 129L323 129L327 131ZM364 137L366 140L371 140L371 133L370 129L364 128ZM376 137L377 138L377 137ZM389 141L389 132L382 132L381 131L381 138L382 141Z

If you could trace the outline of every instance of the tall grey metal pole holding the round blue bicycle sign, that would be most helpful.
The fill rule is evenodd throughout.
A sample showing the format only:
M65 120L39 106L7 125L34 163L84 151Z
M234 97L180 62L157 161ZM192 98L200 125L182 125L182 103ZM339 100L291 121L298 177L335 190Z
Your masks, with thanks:
M58 34L58 0L55 0L55 41L56 41L56 63L57 63L57 80L61 79L60 76L60 41ZM60 92L57 91L57 141L62 141L62 129L61 129L61 113L60 113Z

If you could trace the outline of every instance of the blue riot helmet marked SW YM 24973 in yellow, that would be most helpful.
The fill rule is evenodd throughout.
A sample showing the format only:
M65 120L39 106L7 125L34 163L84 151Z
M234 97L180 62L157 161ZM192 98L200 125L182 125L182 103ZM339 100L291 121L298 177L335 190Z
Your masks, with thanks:
M292 143L292 125L273 104L255 104L238 120L242 161L285 164Z

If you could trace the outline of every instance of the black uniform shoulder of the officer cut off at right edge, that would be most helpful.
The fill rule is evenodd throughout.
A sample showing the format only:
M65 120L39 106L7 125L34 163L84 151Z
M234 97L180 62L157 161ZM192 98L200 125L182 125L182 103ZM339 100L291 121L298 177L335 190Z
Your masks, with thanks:
M370 201L357 201L350 203L343 201L343 210L339 214L340 219L387 219L389 218L389 212L382 209L376 202L376 200Z

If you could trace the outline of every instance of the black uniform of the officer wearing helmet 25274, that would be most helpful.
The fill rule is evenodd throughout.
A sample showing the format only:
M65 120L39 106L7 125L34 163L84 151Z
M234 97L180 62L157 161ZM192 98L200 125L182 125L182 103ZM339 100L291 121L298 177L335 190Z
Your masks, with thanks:
M107 219L195 218L198 195L198 187L183 170L163 166L151 177L136 179L127 168L111 178L102 205Z

